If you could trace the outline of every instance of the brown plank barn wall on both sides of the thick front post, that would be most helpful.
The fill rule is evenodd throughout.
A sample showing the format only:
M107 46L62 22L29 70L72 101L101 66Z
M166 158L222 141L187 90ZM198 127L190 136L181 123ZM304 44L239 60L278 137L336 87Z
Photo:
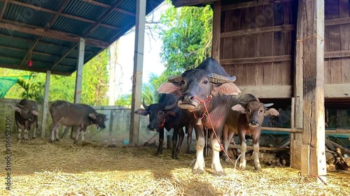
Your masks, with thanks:
M237 85L259 98L293 96L297 0L223 0L219 17L216 53ZM350 98L349 0L325 0L324 40L325 98Z

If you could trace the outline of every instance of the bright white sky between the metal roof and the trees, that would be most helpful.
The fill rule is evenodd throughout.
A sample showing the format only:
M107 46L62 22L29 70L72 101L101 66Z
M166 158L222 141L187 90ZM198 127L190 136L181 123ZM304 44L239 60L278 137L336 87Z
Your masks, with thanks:
M162 12L167 9L167 5L162 4L155 9L153 14L146 17L146 21L159 21ZM162 47L162 40L160 40L157 33L152 30L153 38L151 37L150 30L146 29L145 33L145 43L144 43L144 68L142 81L143 83L148 82L151 73L160 75L165 67L161 63L160 51ZM134 28L124 36L120 37L119 40L119 50L118 50L118 61L117 66L120 66L123 73L117 73L117 77L122 77L123 86L121 88L120 94L131 93L132 91L132 74L134 70L134 41L135 41L135 31Z

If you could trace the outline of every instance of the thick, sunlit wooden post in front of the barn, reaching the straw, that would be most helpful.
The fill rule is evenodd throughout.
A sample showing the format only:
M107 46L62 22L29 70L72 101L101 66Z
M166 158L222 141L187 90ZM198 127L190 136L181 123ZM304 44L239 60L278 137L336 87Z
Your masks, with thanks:
M302 174L326 181L324 111L324 0L300 1L302 6L303 128Z

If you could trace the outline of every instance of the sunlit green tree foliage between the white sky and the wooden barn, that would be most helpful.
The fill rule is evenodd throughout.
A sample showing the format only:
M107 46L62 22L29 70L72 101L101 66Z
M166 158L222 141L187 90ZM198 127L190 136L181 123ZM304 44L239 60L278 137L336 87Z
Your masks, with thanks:
M167 3L171 1L167 0ZM171 6L162 15L160 23L169 27L160 33L163 40L160 56L168 75L195 68L211 56L213 11L210 6Z

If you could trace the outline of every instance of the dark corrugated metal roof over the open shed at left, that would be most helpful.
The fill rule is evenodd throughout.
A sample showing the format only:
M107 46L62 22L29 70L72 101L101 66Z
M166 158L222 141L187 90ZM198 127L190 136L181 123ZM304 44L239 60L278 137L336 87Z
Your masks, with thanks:
M0 13L4 8L3 1L0 0ZM151 13L162 1L147 1L146 13ZM70 75L76 70L78 50L73 46L77 45L79 36L87 38L86 63L135 24L137 0L71 0L64 8L63 2L8 0L0 19L0 67L36 72L51 70L53 74ZM116 3L122 12L111 11ZM58 13L59 10L62 13ZM101 24L94 28L102 18ZM52 19L56 20L45 30ZM90 29L94 31L90 32ZM29 50L33 50L33 66L27 67L27 61L20 65Z

